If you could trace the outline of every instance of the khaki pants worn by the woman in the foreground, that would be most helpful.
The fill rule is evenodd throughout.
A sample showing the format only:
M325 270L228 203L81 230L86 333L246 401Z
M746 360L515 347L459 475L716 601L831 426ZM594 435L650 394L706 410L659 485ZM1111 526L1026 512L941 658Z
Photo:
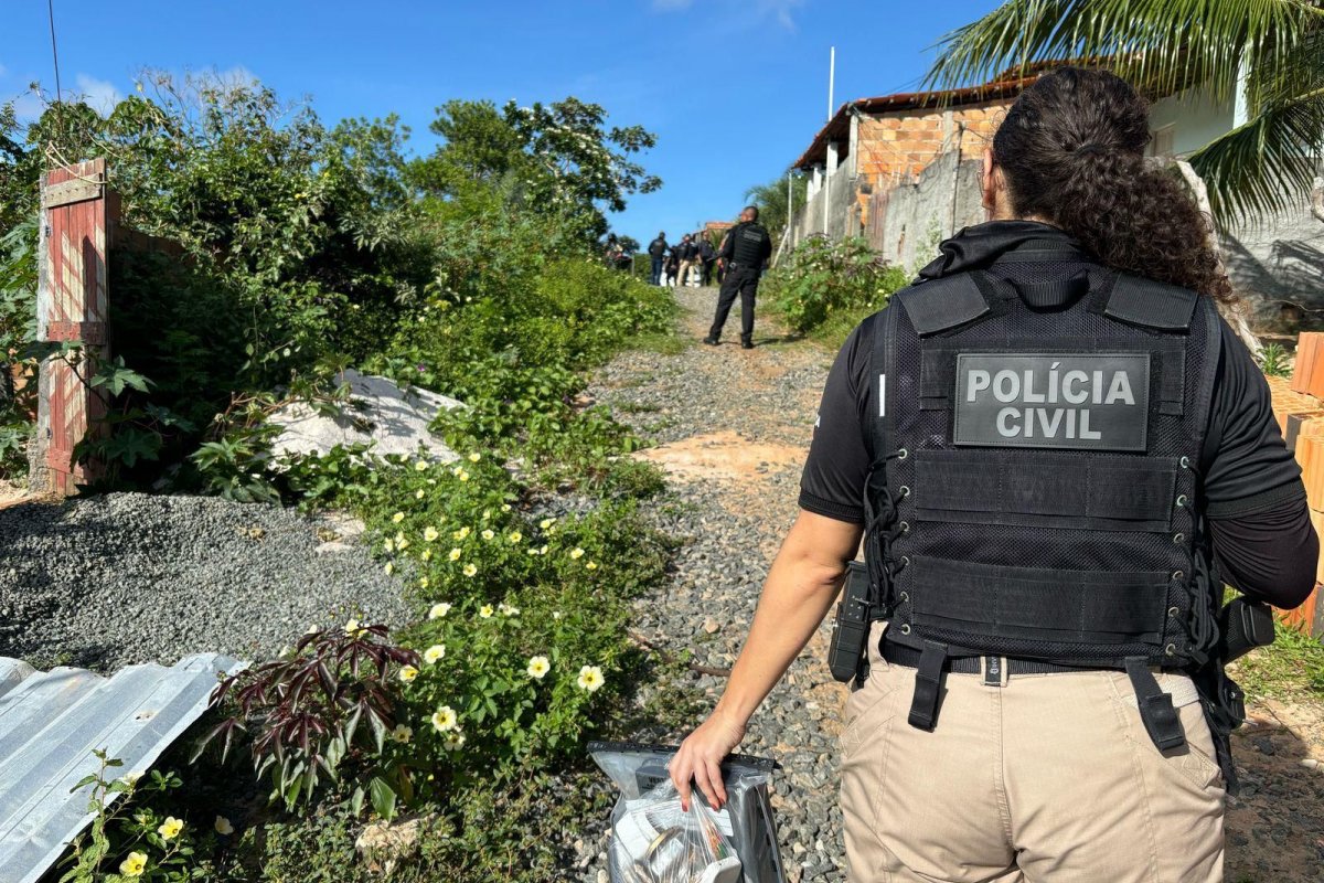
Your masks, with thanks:
M927 732L880 630L842 731L851 883L1222 883L1222 776L1189 678L1157 675L1186 731L1176 752L1120 671L947 674Z

